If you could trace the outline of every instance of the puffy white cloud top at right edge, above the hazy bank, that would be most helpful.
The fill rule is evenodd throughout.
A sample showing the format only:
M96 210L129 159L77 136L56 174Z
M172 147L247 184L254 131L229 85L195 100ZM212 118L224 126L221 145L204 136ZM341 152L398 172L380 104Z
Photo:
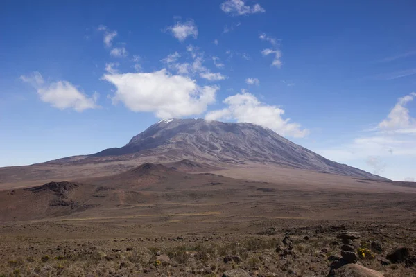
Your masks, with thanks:
M416 97L416 93L410 93L407 96L399 98L397 104L388 114L387 118L379 123L380 129L385 130L403 130L407 128L416 128L416 119L411 118L409 109L406 104Z

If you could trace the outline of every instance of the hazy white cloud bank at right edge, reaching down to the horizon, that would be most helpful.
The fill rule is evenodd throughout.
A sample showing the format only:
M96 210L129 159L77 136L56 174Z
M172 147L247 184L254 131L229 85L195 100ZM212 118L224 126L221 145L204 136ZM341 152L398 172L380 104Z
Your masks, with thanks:
M416 93L410 93L399 98L387 118L367 130L367 135L361 133L352 141L316 152L333 161L359 164L365 170L403 180L415 168L416 120L405 107L415 96Z

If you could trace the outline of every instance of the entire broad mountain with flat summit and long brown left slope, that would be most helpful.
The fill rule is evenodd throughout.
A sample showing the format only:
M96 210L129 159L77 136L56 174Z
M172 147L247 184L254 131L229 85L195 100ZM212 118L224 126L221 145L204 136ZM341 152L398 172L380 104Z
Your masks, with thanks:
M164 163L182 172L212 172L255 165L387 180L325 159L259 125L169 119L151 125L121 148L32 166L0 168L0 188L116 175L142 163Z

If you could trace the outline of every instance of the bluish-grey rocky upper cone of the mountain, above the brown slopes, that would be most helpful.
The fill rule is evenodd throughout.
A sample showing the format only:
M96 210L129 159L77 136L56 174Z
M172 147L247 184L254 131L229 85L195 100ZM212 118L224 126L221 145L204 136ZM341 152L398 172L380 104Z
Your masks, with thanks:
M267 163L287 168L382 179L336 163L297 145L271 129L252 123L223 123L203 119L165 119L134 136L121 148L109 148L86 159L157 156L162 162L180 159L205 163Z

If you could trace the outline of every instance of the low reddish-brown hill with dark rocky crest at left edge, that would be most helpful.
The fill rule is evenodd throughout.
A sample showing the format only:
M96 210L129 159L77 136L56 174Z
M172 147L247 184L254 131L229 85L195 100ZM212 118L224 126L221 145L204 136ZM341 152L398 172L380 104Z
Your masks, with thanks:
M76 213L144 201L141 193L79 182L0 191L0 222L68 217Z

